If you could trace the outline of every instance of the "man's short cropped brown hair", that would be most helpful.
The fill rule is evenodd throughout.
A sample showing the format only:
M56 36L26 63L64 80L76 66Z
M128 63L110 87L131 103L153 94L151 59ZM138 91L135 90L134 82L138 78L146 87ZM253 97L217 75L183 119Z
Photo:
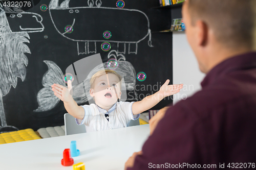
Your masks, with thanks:
M192 25L203 20L226 47L255 50L256 0L190 0Z

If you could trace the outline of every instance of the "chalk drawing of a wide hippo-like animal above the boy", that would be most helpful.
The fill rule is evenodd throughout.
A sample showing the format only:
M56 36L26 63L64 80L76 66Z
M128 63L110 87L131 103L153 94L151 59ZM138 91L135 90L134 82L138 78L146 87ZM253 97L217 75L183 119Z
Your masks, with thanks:
M144 12L101 7L101 0L96 1L96 7L93 7L93 0L88 1L89 7L70 8L69 2L70 0L65 0L59 5L59 0L51 0L49 13L56 31L61 36L77 42L78 55L97 53L96 42L104 41L117 43L117 52L123 54L126 52L126 43L128 54L137 54L138 43L146 37L148 46L153 47L150 22ZM70 34L65 32L67 25L74 29ZM112 33L108 40L102 36L106 30Z

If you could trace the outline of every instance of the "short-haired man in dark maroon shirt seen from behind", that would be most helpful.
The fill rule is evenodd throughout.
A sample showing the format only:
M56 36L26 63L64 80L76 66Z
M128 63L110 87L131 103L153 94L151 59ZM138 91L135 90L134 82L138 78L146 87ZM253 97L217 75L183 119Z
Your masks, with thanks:
M255 168L255 7L255 0L183 4L188 42L207 74L202 90L153 117L151 136L125 169Z

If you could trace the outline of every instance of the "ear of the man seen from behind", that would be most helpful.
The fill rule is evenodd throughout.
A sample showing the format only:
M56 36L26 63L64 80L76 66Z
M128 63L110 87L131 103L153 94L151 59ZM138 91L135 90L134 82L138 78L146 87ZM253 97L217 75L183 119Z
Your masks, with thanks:
M200 46L206 46L206 44L208 43L208 38L209 38L209 27L207 26L207 24L202 21L202 20L198 20L196 23L196 27L197 27L197 43Z

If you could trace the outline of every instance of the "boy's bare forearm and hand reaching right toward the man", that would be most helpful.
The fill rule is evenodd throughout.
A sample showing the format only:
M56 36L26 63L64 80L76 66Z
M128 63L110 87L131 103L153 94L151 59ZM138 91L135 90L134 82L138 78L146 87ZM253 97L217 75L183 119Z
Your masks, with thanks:
M168 85L169 82L169 80L166 80L166 82L161 86L160 90L155 94L148 95L142 101L135 102L132 106L133 114L139 114L151 109L165 97L180 92L183 84Z

